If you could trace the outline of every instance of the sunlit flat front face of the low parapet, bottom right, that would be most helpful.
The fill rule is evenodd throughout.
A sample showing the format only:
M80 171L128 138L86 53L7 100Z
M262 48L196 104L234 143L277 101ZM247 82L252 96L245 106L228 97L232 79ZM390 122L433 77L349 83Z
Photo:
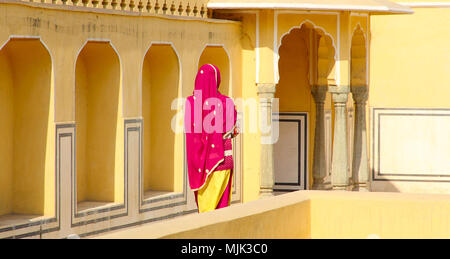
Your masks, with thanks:
M449 238L446 195L317 193L311 238Z

